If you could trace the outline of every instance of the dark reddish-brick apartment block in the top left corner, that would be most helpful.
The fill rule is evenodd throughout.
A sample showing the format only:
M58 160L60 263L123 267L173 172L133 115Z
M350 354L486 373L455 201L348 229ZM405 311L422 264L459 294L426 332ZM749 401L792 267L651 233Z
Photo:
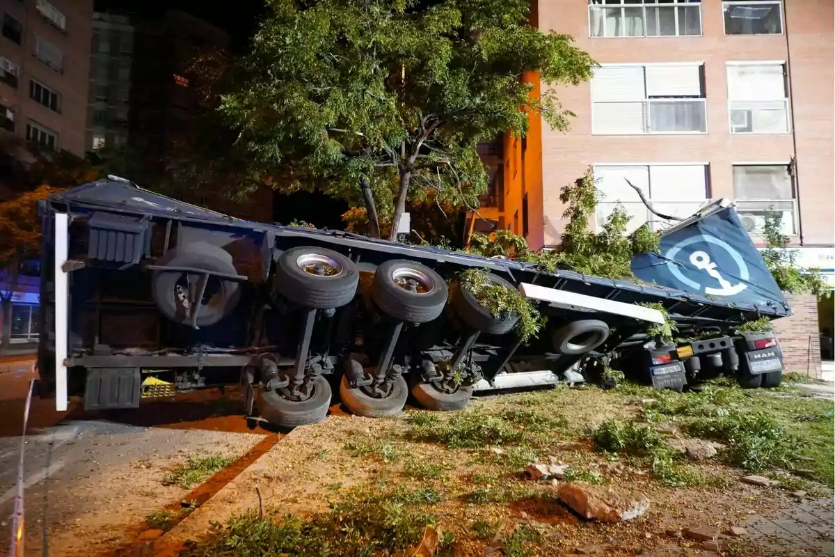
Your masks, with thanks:
M0 0L0 128L83 156L93 0Z

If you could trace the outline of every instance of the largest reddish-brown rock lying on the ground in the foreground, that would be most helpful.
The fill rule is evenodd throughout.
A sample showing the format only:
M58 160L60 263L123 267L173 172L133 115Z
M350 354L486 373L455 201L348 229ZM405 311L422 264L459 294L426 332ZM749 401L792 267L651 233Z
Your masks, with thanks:
M644 494L589 484L563 484L559 499L584 519L600 522L635 519L650 509L650 499Z

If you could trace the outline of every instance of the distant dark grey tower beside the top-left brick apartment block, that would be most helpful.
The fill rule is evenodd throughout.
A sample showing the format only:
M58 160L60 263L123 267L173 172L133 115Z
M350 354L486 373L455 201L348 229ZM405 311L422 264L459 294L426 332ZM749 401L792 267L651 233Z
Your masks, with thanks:
M134 26L128 16L93 14L85 149L97 151L128 141Z

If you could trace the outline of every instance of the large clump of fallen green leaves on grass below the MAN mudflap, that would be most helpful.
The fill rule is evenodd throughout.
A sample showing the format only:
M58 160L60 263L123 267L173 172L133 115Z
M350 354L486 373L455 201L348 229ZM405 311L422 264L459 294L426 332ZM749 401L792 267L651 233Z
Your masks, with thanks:
M718 416L696 418L686 424L685 431L727 443L727 458L748 472L791 468L798 450L797 440L762 411L730 409Z

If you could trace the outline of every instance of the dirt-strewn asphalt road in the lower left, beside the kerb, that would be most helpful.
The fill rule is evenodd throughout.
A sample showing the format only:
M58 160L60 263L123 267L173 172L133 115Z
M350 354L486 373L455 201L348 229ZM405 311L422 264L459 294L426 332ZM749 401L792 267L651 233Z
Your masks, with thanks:
M2 366L0 554L6 554L31 362ZM23 446L25 554L112 554L105 549L129 542L146 514L185 492L160 481L185 454L240 456L260 433L246 428L234 392L193 393L106 415L84 413L77 400L58 413L54 400L33 399Z

